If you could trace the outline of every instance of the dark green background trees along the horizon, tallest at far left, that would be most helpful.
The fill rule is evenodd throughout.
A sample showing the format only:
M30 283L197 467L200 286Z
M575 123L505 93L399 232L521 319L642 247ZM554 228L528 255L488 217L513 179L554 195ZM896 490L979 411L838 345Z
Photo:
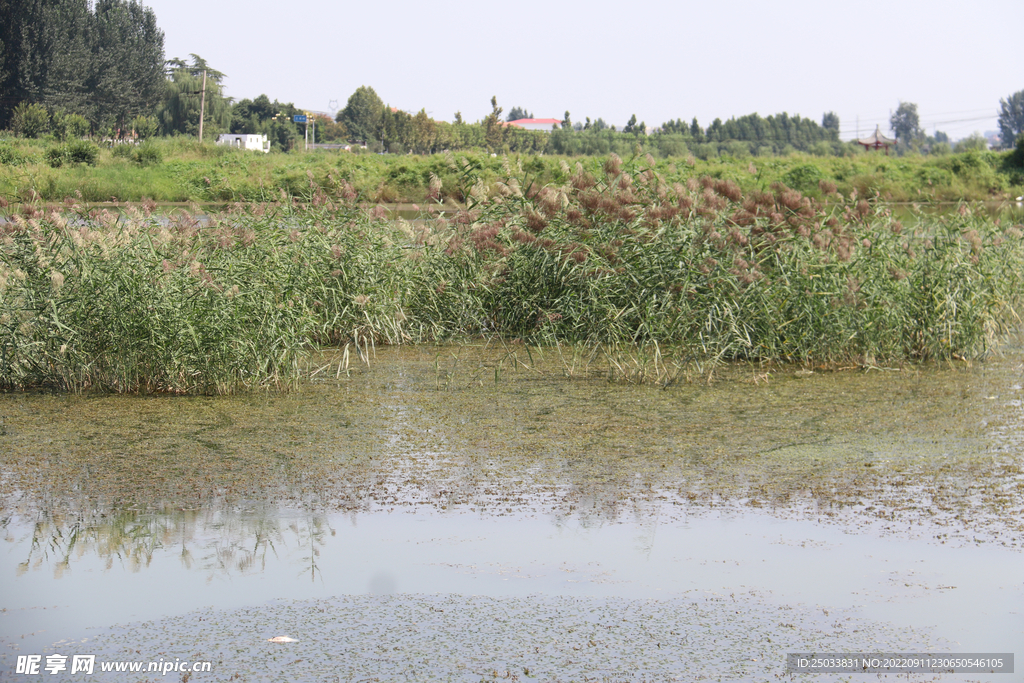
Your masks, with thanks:
M104 138L263 133L275 148L303 138L293 119L301 110L262 94L233 101L223 93L224 74L199 55L164 59L164 34L153 10L137 0L0 0L0 129L35 137L88 133ZM318 141L346 140L373 152L431 154L482 148L493 153L605 155L629 153L637 142L662 156L767 156L805 152L845 154L834 112L820 123L786 113L750 114L701 126L694 118L667 121L648 130L634 115L622 128L602 119L571 120L569 112L551 131L525 130L511 121L532 118L513 106L506 118L497 98L481 121L435 121L385 104L360 86L334 119L313 115ZM1024 131L1024 91L1000 99L1005 147ZM891 119L900 152L942 150L948 137L926 136L916 104L900 102ZM983 141L969 140L972 144Z

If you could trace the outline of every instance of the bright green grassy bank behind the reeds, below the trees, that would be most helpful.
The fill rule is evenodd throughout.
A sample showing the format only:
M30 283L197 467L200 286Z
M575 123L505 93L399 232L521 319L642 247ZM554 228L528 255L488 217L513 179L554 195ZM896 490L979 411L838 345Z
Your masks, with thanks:
M91 143L90 143L91 144ZM310 179L333 194L345 180L366 202L425 201L430 175L439 177L445 197L462 203L458 183L443 156L376 156L340 152L261 155L186 138L167 138L140 147L98 150L94 165L67 161L50 163L59 145L40 140L0 140L0 200L58 202L259 202L276 199L281 189L301 198ZM463 156L463 155L460 155ZM501 177L501 159L486 154L465 155L480 178L494 186ZM567 175L553 157L524 158L526 170L542 182L564 183ZM603 158L582 158L591 173ZM862 197L878 194L895 202L955 202L1017 197L1024 194L1024 166L1013 153L971 152L945 157L886 157L878 153L850 157L791 155L768 158L669 158L656 161L668 182L685 182L710 175L730 179L744 191L767 189L783 182L819 198L818 182L835 183L839 191L854 189ZM311 175L311 178L310 178Z

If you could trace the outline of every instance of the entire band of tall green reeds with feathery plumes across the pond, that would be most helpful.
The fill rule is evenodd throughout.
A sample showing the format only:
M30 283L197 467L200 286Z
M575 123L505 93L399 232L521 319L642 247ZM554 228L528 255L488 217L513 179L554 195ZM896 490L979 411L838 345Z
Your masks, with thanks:
M1022 226L967 205L910 226L827 182L825 204L778 183L669 184L649 157L565 166L557 185L512 162L474 184L450 164L466 210L413 223L312 179L302 204L202 222L73 202L13 216L0 386L227 392L292 382L324 345L479 335L600 348L642 381L730 359L978 357L1017 322Z

